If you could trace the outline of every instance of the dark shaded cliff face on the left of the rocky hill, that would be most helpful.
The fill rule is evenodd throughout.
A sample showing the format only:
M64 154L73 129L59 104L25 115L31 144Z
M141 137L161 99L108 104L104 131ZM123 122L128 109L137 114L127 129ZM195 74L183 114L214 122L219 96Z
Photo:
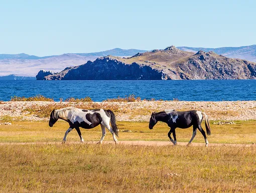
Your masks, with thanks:
M160 80L162 72L137 63L125 64L110 57L66 68L64 71L45 76L43 80Z

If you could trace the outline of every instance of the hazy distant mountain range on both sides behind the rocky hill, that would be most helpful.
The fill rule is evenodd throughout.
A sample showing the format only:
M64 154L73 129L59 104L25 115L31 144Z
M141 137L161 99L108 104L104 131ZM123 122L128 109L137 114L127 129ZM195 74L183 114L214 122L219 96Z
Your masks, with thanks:
M223 47L223 48L192 48L177 47L188 52L213 51L219 55L229 58L239 58L256 62L256 45L243 47ZM85 64L87 61L94 61L98 57L107 55L127 57L137 53L145 53L146 50L129 49L123 50L115 48L103 52L95 53L69 53L57 56L34 56L27 54L0 54L0 76L30 76L35 77L40 70L60 72L66 67L73 67Z

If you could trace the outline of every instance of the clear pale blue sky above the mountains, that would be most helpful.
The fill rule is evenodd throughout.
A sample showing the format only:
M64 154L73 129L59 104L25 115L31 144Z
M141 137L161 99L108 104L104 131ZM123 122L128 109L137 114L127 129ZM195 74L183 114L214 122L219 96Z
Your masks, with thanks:
M255 12L255 0L0 0L0 54L246 46Z

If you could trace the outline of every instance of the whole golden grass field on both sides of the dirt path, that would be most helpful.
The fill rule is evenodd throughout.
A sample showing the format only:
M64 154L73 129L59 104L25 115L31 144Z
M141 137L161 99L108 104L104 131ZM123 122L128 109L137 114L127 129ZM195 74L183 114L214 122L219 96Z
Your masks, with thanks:
M5 121L1 121L5 122ZM256 121L213 125L209 143L256 142ZM118 140L168 141L158 123L118 122ZM203 125L203 128L204 125ZM0 125L0 192L256 192L256 146L136 146L63 144L68 124L12 121ZM121 132L122 130L132 132ZM100 127L81 130L85 141L98 141ZM192 128L176 129L188 142ZM68 141L79 141L75 130ZM112 140L107 131L105 140ZM10 145L8 142L59 142ZM193 142L204 142L200 132Z

